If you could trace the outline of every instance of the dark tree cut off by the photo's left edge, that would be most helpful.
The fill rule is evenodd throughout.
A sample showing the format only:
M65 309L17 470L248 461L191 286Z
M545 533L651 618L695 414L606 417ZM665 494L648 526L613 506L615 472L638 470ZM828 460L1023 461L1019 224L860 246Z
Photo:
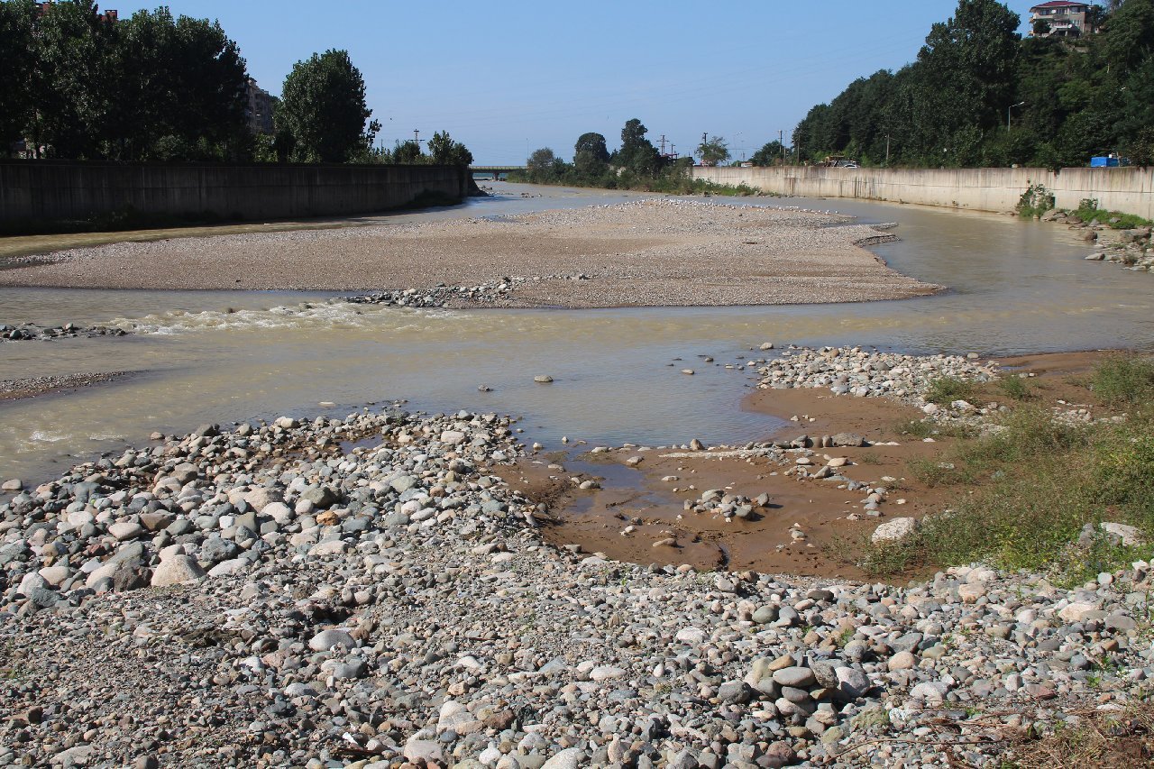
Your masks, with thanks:
M32 46L32 0L0 2L0 155L8 155L14 142L24 139L32 119L30 83L36 72Z

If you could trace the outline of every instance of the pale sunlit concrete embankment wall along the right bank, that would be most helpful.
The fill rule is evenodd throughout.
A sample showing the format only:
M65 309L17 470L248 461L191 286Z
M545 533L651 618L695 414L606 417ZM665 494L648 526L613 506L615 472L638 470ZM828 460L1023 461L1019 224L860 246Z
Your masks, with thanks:
M1032 184L1054 193L1058 208L1097 199L1110 211L1154 219L1154 169L694 169L695 179L745 184L797 197L862 197L979 211L1012 211Z

